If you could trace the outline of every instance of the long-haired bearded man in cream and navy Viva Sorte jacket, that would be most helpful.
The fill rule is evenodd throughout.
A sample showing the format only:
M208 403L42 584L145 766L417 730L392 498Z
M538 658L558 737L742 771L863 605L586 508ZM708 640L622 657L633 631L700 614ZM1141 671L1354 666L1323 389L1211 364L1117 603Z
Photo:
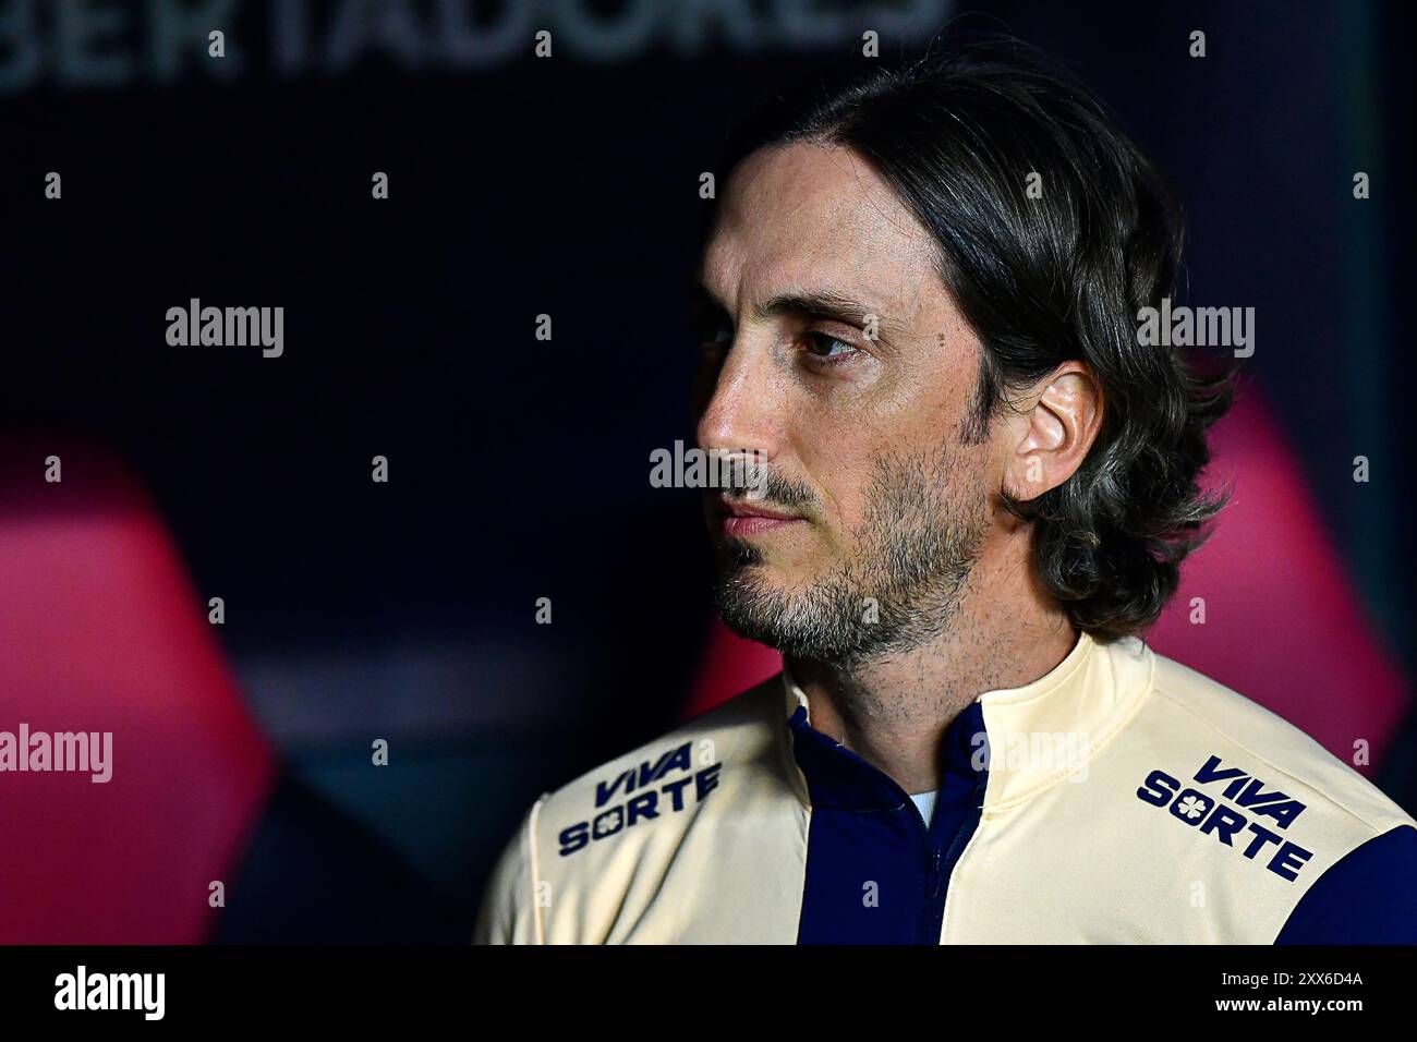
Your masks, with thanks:
M730 157L697 434L785 669L538 800L476 940L1417 941L1413 819L1139 638L1230 384L1138 336L1179 227L1100 103L959 48Z

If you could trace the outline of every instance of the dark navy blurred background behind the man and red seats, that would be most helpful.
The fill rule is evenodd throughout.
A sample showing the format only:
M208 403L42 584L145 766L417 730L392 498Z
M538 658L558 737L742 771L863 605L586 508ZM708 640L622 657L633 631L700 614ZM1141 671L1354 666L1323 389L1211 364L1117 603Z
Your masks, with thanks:
M540 792L716 698L696 678L733 645L696 493L648 482L652 449L693 439L699 176L754 101L871 61L863 31L893 61L965 13L1070 64L1175 183L1182 296L1255 308L1246 387L1322 534L1304 553L1410 696L1408 4L0 0L7 516L51 444L109 455L196 618L225 601L203 632L282 780L237 815L231 878L261 882L215 936L466 939ZM190 298L283 306L283 356L167 346ZM1244 631L1261 661L1295 652L1280 618ZM1319 696L1342 715L1349 692ZM1411 809L1393 705L1369 773Z

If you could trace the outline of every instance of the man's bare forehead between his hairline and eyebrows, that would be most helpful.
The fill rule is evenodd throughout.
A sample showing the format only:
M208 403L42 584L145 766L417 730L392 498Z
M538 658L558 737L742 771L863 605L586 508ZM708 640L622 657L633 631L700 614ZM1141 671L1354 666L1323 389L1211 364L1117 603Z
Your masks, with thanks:
M760 149L733 173L704 250L704 284L730 305L835 289L883 309L918 309L937 278L934 241L849 149Z

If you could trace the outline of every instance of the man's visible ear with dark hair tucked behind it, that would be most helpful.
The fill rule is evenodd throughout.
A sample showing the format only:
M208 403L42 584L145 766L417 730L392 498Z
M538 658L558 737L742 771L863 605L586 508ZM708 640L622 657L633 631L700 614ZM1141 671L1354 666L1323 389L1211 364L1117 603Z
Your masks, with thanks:
M1083 362L1064 362L1034 386L1005 425L1005 491L1029 500L1071 478L1102 427L1102 386Z

